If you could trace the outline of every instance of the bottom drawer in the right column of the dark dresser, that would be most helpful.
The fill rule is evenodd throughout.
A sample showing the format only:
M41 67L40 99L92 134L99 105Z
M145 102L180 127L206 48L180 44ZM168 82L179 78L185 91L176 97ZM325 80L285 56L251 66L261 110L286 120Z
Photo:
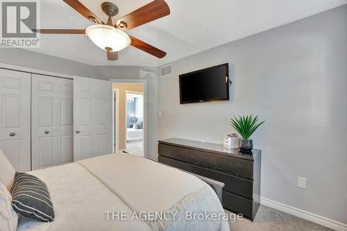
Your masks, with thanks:
M222 205L225 209L235 212L236 214L243 214L247 219L253 221L253 201L230 194L223 190Z

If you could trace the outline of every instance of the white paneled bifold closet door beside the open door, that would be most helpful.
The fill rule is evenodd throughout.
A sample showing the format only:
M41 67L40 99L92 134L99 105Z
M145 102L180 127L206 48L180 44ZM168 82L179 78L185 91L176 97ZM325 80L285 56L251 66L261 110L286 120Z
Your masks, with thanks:
M33 74L31 99L33 170L74 160L73 90L73 80Z

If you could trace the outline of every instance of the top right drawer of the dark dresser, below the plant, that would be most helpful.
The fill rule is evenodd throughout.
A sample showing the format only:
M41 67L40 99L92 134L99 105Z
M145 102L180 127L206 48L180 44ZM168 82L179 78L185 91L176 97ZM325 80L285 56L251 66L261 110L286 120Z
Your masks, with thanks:
M252 161L204 151L195 151L193 164L253 180Z

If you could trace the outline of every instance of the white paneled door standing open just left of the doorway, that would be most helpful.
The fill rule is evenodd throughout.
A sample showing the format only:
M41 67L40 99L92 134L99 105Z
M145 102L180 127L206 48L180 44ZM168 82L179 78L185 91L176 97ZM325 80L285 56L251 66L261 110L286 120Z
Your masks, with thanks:
M74 160L112 153L112 83L74 78Z

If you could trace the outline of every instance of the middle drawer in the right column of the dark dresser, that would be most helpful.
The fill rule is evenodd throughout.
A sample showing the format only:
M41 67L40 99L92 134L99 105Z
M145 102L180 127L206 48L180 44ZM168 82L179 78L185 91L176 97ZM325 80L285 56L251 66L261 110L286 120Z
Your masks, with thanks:
M249 199L253 199L253 181L231 176L226 173L214 171L211 169L205 169L201 166L194 166L194 173L199 176L205 176L212 180L223 182L225 186L224 191L228 191L232 194L237 194Z

